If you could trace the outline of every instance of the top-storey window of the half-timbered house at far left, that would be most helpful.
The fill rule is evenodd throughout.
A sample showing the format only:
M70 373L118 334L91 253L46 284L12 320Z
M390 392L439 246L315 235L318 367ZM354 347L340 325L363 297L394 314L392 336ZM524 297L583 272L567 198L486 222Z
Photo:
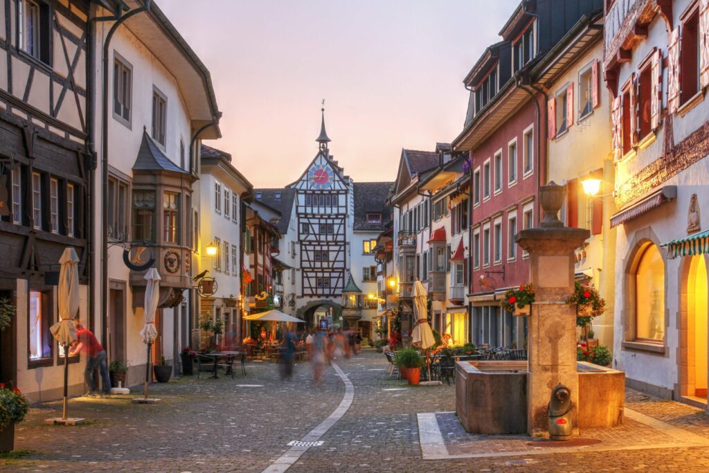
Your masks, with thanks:
M21 50L45 64L50 64L51 31L48 4L35 0L18 1L17 38Z

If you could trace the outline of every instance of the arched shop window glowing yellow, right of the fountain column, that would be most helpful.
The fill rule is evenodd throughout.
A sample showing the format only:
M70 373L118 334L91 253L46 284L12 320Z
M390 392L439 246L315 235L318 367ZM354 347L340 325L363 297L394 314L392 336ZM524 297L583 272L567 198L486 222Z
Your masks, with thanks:
M664 261L657 246L649 244L635 269L635 338L664 339Z

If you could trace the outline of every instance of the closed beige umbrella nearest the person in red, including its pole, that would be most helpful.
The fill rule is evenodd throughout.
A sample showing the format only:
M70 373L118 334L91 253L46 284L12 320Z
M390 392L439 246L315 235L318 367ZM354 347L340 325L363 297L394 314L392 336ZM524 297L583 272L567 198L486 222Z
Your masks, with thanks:
M64 347L64 402L62 419L67 418L67 391L69 385L69 345L77 340L74 317L79 312L79 257L74 248L65 248L59 259L59 322L49 330L52 336Z

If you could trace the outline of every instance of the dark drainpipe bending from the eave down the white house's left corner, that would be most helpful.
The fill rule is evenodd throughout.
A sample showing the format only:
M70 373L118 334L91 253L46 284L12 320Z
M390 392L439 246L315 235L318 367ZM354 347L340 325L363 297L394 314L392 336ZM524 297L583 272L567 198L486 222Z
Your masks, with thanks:
M111 45L111 38L116 30L129 18L143 13L143 11L150 11L150 0L144 0L143 6L131 10L125 15L122 15L119 9L116 16L96 18L96 21L116 21L106 33L104 55L101 58L104 69L103 90L101 90L101 104L104 107L101 120L101 343L104 346L107 345L106 323L108 318L108 219L106 218L108 215L108 199L106 199L106 189L108 189L108 47Z

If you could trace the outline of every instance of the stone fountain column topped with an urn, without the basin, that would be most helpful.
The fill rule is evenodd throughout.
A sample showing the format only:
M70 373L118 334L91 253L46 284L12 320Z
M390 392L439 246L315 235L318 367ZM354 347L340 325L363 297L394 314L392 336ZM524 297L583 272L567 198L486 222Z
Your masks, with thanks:
M579 410L579 377L576 373L576 306L566 304L574 292L574 250L590 236L588 230L565 227L559 221L566 187L540 187L544 218L539 227L522 230L515 241L529 252L530 282L535 302L527 334L527 431L548 432L547 405L557 384L571 389L574 432Z

